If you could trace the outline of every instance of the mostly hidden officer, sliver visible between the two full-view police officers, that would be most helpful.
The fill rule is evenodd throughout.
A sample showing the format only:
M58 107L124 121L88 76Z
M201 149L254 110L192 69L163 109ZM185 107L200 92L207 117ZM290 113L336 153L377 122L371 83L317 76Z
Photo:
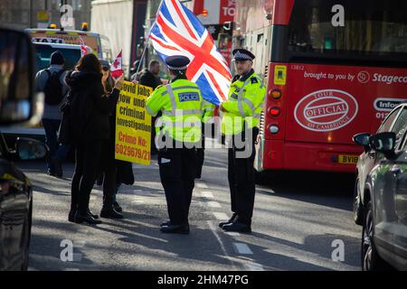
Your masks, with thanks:
M213 124L213 114L215 110L215 105L210 103L207 100L203 100L203 113L204 116L202 118L202 143L201 147L197 149L197 163L196 163L196 179L201 179L202 176L202 168L204 166L204 151L205 151L205 135L210 136L212 133L212 124Z

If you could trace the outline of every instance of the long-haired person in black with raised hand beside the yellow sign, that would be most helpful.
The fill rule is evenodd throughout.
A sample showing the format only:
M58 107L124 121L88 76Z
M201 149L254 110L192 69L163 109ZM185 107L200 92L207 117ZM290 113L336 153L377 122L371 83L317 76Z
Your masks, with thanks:
M71 143L75 145L75 172L71 183L69 220L99 224L97 215L89 210L90 191L98 174L102 144L109 139L109 114L116 110L123 77L116 80L106 97L102 85L102 68L92 53L80 58L75 70L67 73L70 87Z

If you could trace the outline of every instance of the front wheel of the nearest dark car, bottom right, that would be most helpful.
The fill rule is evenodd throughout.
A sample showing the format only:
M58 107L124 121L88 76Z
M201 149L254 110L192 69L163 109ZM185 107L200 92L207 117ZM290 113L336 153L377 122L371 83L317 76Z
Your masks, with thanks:
M372 201L366 205L364 214L364 226L362 230L362 270L378 271L389 266L377 253L374 247L374 214L372 210Z

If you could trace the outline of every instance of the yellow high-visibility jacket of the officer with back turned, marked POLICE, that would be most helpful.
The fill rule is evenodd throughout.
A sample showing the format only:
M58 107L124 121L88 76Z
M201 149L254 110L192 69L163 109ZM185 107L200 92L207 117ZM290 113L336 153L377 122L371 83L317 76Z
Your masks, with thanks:
M170 84L156 88L147 98L146 110L153 117L159 111L163 113L156 123L157 135L168 134L184 143L201 141L203 98L194 82L175 78Z

